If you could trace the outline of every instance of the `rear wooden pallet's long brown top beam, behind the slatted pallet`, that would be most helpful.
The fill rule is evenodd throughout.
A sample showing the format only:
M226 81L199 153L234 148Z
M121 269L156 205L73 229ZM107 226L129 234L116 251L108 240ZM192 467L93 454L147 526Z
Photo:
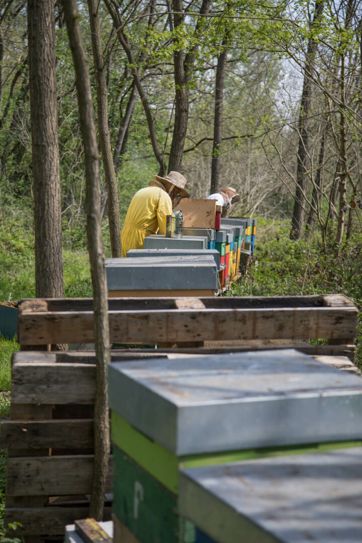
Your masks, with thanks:
M357 319L343 295L109 299L112 343L327 338L353 345ZM22 346L93 340L92 299L20 302Z

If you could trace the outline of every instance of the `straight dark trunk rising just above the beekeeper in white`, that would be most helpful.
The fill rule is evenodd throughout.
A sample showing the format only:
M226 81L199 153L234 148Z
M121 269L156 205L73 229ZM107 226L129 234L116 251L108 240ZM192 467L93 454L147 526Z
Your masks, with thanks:
M223 40L223 51L218 58L218 67L215 79L215 113L214 113L214 142L211 160L211 186L210 194L218 192L220 187L220 166L221 155L220 146L223 140L223 99L224 99L224 81L227 59L227 40Z

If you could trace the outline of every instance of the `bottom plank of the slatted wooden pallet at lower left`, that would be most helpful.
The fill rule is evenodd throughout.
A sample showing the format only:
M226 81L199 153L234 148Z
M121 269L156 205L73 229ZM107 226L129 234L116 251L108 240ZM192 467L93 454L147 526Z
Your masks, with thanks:
M10 522L20 522L14 536L19 535L61 535L64 527L77 519L88 516L88 507L16 507L5 508L5 526ZM111 520L112 508L105 506L104 520Z

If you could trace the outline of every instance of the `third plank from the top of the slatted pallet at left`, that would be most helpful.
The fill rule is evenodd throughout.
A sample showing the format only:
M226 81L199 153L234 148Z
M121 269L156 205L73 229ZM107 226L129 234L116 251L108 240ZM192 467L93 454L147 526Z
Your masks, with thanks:
M9 458L7 494L13 496L90 494L93 455ZM112 490L110 457L106 492Z

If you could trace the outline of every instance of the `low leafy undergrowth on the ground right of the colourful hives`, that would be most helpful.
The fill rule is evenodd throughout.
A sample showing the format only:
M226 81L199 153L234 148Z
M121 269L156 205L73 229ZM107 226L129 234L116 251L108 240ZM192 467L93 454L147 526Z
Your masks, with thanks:
M354 233L340 254L324 250L315 234L290 241L288 222L258 220L255 259L245 277L231 287L232 296L345 294L362 310L362 234ZM356 362L362 365L362 312L356 341ZM323 344L325 339L314 339Z

